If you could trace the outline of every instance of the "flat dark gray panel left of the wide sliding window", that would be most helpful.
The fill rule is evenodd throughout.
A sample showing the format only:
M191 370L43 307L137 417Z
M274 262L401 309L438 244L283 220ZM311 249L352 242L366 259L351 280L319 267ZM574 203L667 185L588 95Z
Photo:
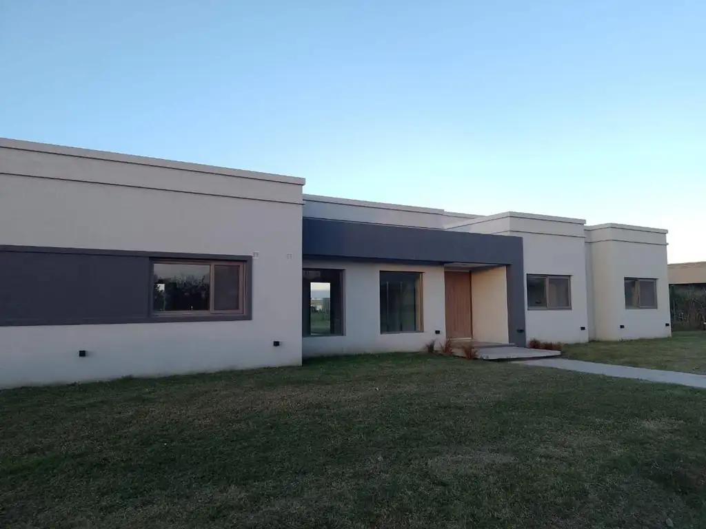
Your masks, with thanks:
M148 257L5 251L0 278L0 324L130 322L148 316Z

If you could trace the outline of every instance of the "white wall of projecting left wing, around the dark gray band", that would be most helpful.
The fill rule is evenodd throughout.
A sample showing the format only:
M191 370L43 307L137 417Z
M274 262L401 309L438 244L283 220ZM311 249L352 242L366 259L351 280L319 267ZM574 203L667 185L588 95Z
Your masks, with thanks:
M301 363L303 181L17 145L0 142L0 244L256 254L253 319L0 327L0 386Z

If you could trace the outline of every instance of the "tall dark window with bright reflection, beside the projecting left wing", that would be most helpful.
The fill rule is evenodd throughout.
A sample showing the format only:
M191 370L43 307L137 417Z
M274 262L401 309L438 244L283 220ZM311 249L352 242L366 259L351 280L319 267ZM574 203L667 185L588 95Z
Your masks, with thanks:
M343 271L304 269L301 276L302 334L343 334Z

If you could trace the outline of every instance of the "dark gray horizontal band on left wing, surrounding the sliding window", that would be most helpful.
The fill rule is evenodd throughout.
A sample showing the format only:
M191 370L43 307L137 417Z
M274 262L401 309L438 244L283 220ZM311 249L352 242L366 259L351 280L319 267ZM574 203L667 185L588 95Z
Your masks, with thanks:
M152 315L152 262L244 261L244 315ZM0 326L251 320L252 257L0 246Z

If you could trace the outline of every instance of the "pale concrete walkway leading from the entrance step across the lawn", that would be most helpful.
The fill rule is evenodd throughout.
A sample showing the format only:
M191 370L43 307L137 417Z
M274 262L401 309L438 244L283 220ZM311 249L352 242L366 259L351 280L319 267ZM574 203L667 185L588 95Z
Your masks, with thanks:
M692 375L691 373L680 373L676 371L660 371L657 369L645 369L644 367L628 367L627 365L581 362L580 360L566 360L565 358L546 358L544 360L528 360L518 363L537 367L556 367L557 369L593 373L594 375L606 375L608 377L635 378L649 380L650 382L681 384L682 386L706 389L706 375Z

